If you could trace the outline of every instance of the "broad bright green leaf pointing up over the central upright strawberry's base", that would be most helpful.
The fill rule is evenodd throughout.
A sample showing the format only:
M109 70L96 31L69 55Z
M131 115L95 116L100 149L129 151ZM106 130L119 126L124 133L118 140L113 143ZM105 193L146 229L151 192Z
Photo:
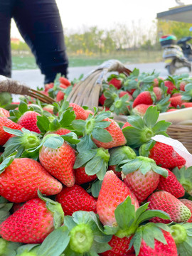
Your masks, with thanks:
M129 196L117 206L114 210L114 216L119 228L122 230L127 229L132 225L135 220L135 207L132 205L132 200Z

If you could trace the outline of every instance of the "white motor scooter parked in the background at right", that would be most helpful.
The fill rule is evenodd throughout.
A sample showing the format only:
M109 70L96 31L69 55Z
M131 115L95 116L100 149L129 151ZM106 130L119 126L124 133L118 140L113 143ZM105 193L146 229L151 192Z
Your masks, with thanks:
M159 41L162 48L164 48L163 58L166 64L165 68L168 70L169 75L174 75L178 68L183 67L187 67L189 72L191 72L191 61L186 58L181 46L176 44L178 43L176 36L162 36ZM181 42L182 45L184 42L186 43L186 41Z

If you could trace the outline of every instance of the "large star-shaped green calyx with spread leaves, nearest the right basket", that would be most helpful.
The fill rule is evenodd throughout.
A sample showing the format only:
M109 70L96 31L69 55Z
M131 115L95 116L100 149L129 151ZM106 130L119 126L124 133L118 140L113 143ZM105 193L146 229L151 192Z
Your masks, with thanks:
M122 132L124 137L127 139L127 145L133 148L138 148L142 144L149 142L151 137L157 134L166 134L166 129L171 124L170 122L159 121L159 111L156 107L148 107L144 117L139 117L139 115L130 115L127 121L132 126L124 127Z

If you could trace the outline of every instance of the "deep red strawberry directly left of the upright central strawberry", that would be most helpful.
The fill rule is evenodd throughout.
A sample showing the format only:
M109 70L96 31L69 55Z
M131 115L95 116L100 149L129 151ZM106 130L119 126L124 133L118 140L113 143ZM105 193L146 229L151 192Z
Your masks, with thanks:
M84 188L74 185L65 187L56 196L56 201L61 204L65 215L72 215L75 211L85 210L96 213L97 200L90 196Z

